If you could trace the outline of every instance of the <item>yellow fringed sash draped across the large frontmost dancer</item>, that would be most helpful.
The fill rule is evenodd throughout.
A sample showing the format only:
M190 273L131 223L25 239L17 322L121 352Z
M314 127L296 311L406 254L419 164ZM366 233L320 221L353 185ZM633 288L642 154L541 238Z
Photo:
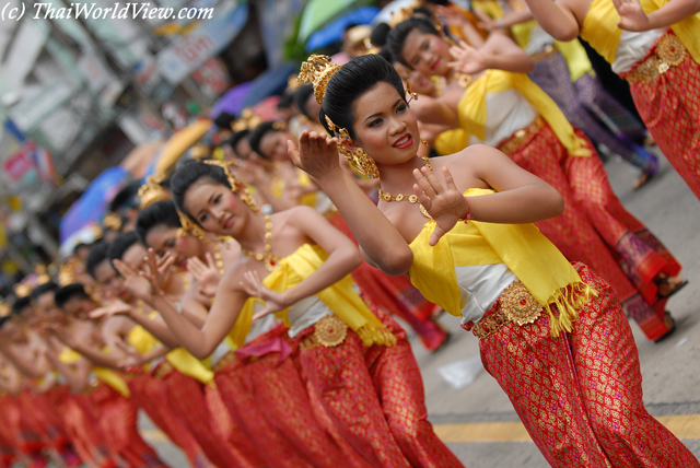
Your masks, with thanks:
M470 188L464 195L487 194L493 190ZM571 331L578 309L595 295L534 224L459 222L431 247L429 241L434 227L434 221L427 223L411 242L413 265L409 274L411 283L427 300L452 315L459 316L462 311L455 267L505 264L549 312L552 336ZM574 297L568 286L578 288L581 295ZM558 316L553 315L552 305L557 306Z

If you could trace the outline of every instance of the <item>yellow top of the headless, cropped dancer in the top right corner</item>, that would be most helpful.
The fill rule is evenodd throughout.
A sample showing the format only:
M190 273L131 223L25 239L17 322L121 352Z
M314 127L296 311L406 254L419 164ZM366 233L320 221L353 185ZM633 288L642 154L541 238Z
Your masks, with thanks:
M640 0L645 13L656 11L668 3L668 0ZM612 0L594 0L591 3L581 27L581 37L591 44L605 59L612 63L617 54L622 30L617 27L620 21ZM670 26L682 45L688 49L692 59L700 63L700 17L692 14L679 23Z

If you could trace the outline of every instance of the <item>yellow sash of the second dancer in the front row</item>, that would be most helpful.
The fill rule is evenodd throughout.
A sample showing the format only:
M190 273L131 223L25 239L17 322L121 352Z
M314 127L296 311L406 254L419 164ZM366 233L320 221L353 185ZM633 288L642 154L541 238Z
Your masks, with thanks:
M319 246L304 244L292 255L280 260L279 267L265 278L264 283L273 291L287 291L308 278L327 258L328 254ZM336 317L358 334L365 346L392 347L396 344L396 337L372 314L352 288L353 285L352 278L347 276L316 295L332 311ZM276 315L289 327L287 312L288 309L284 309Z

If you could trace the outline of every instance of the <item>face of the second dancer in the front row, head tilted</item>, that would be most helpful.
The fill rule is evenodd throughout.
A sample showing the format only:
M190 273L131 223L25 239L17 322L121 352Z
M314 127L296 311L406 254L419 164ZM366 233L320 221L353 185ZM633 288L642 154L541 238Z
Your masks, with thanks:
M205 231L234 238L252 213L229 187L207 178L191 185L185 194L184 204Z

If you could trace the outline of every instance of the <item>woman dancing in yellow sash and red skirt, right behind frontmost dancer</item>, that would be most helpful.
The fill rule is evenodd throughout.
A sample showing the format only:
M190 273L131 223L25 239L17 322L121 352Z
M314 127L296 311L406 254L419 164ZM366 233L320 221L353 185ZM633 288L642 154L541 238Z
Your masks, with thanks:
M665 305L685 284L680 265L622 207L593 145L553 101L524 74L486 70L527 71L527 54L503 35L493 35L480 50L450 49L431 23L418 19L396 26L389 44L397 58L424 73L431 66L446 77L477 73L466 90L448 87L434 112L438 118L458 116L464 129L448 150L486 142L557 188L564 197L564 214L537 226L568 258L605 276L650 340L668 336L675 325ZM451 54L457 60L448 65Z

